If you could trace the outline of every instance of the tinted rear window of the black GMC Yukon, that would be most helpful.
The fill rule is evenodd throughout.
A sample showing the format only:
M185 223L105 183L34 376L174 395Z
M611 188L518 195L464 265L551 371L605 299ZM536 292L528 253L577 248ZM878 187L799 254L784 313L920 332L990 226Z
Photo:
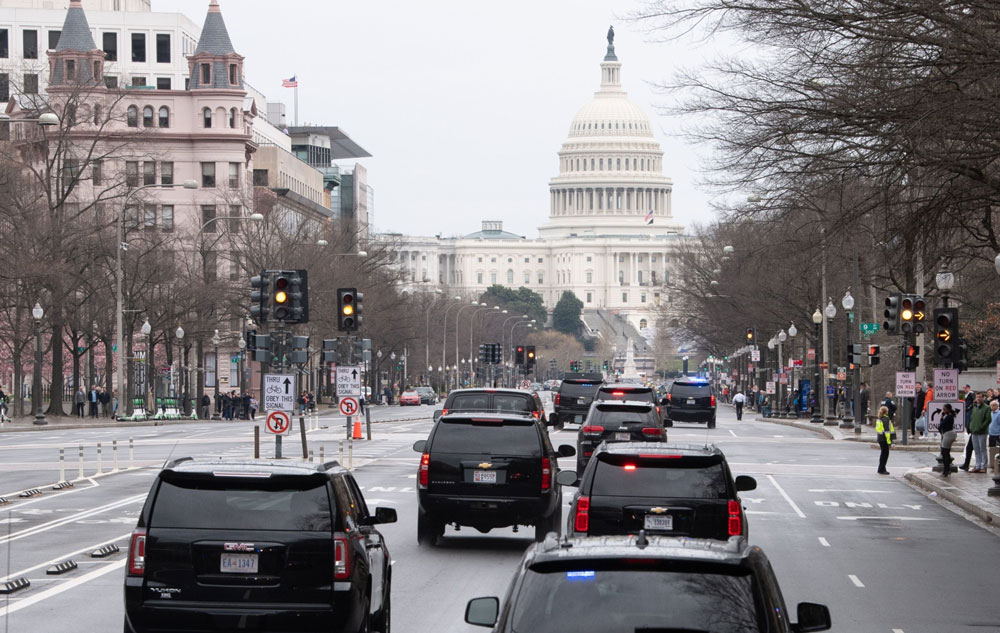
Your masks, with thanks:
M152 528L322 530L332 526L326 477L161 476Z

